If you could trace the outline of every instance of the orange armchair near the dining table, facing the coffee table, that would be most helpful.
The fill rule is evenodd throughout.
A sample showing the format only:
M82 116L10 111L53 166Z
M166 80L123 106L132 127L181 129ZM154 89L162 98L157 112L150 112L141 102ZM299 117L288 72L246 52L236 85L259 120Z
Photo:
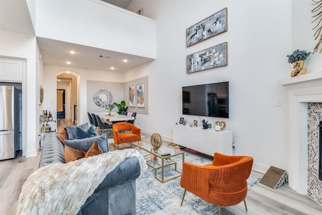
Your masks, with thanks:
M121 132L131 131L131 132ZM141 129L128 122L118 122L113 124L113 138L117 148L119 144L141 140ZM115 147L115 145L114 145Z

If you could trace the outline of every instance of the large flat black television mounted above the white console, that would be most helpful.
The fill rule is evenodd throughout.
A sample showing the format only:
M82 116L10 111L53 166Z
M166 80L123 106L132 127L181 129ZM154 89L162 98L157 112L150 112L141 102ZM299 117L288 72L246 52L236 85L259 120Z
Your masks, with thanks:
M182 87L182 114L229 118L229 82Z

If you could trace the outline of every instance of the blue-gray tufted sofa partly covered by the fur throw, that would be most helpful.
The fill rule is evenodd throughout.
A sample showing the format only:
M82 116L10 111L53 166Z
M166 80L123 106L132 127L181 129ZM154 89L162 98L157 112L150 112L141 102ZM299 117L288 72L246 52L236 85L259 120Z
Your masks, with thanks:
M57 133L46 133L39 168L65 163L64 146ZM96 188L77 214L136 214L135 181L140 175L137 158L127 158Z

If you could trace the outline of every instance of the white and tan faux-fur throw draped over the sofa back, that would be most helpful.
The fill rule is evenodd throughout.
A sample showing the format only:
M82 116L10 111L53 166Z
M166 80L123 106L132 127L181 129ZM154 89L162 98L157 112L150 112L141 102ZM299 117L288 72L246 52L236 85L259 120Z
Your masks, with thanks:
M76 214L106 175L130 157L138 158L142 175L147 169L146 162L134 149L51 164L36 170L22 187L17 214Z

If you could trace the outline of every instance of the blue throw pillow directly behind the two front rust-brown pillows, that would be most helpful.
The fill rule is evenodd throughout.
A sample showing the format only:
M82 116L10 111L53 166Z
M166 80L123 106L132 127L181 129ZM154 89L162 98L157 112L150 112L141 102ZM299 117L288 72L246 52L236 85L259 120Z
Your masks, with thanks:
M93 136L93 137L88 137L84 139L65 139L64 145L76 150L82 150L84 152L87 152L92 147L95 141L97 141L103 153L106 153L109 151L107 147L106 133L104 133L101 136Z

